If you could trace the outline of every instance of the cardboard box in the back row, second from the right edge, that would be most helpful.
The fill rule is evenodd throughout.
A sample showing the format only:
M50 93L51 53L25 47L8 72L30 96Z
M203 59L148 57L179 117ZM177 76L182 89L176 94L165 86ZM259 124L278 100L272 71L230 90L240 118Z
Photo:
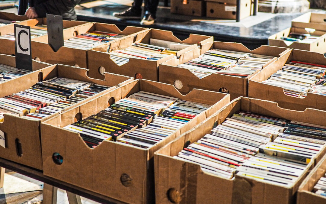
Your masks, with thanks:
M272 61L276 60L277 57L282 55L284 52L288 51L288 49L285 48L272 47L267 45L262 45L255 50L249 50L243 44L234 42L214 42L204 52L210 49L222 49L239 52L249 52L259 55L270 55L274 56L274 59ZM222 88L226 88L230 93L231 100L239 96L247 96L248 79L252 77L255 73L246 78L213 73L209 76L200 79L188 69L177 67L177 65L183 64L191 59L194 59L200 54L201 53L198 49L193 49L189 52L180 55L179 59L173 58L162 63L159 68L159 82L173 84L183 94L188 93L193 88L201 88L217 92L221 92ZM266 67L267 65L265 65L264 67Z

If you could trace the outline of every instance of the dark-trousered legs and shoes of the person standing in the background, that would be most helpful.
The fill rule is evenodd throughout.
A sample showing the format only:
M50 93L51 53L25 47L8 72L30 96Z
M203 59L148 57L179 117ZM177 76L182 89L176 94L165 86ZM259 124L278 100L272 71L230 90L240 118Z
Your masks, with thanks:
M143 0L134 0L132 7L128 8L127 10L121 13L113 13L113 16L125 20L141 19L142 2ZM158 2L159 0L144 0L145 12L144 17L141 20L142 25L154 24L154 21L156 19Z

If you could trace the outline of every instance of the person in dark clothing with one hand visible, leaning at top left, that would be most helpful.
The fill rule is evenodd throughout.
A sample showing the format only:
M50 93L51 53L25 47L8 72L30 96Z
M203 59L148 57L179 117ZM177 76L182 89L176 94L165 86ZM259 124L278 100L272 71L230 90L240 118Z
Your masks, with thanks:
M27 1L30 6L28 9ZM20 0L18 14L25 14L27 18L32 19L44 18L48 13L60 15L64 20L77 20L75 6L79 4L80 1L81 0Z

